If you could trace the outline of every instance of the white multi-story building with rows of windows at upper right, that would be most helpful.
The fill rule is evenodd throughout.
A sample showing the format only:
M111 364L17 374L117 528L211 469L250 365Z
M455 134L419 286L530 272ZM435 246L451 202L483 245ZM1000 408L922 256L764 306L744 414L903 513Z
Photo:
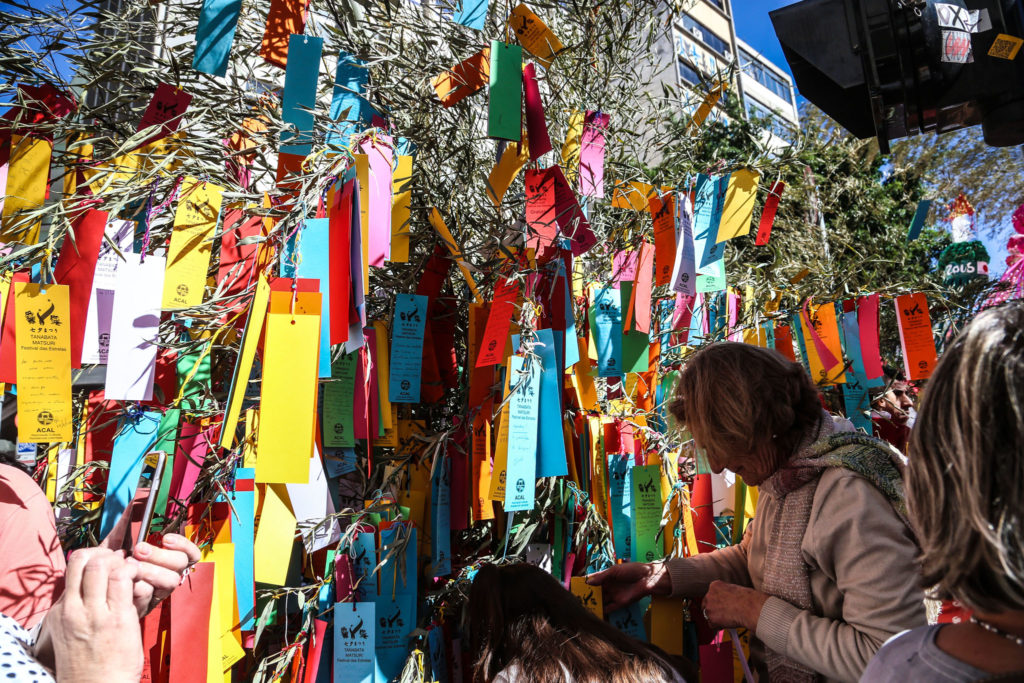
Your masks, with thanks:
M793 79L736 37L731 0L697 0L673 27L676 84L680 89L726 78L748 116L764 119L771 142L791 141L800 128Z

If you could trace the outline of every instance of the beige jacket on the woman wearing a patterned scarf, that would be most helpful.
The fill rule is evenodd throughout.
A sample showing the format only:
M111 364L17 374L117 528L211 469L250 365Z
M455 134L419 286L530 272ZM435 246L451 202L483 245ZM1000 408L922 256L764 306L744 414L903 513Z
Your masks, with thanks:
M769 529L779 512L779 501L762 492L757 516L739 545L669 560L673 595L701 596L715 580L761 590ZM841 468L821 474L801 551L811 568L814 609L769 597L757 638L771 649L826 681L857 681L890 636L925 626L916 547L892 505L867 479ZM752 641L755 666L763 660L762 652ZM760 679L768 677L761 672Z

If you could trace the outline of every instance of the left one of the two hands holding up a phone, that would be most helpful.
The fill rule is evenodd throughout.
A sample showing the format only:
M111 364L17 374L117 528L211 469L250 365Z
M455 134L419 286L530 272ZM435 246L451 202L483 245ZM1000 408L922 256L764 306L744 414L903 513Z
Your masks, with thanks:
M142 676L142 634L132 603L136 571L105 548L72 554L63 595L45 622L58 682L122 683Z

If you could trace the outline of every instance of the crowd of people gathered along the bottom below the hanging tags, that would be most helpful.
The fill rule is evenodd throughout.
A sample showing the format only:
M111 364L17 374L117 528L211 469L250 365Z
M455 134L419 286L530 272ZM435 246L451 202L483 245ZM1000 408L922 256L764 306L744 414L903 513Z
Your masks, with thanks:
M605 610L692 598L713 628L751 634L761 681L1024 681L1024 303L956 337L919 412L889 380L877 438L773 350L696 351L670 411L715 472L759 487L757 514L737 545L591 574ZM46 498L0 466L0 680L139 680L138 617L200 551L171 533L126 556L121 535L66 565ZM929 601L964 618L929 624ZM467 618L474 682L696 679L529 565L481 568Z

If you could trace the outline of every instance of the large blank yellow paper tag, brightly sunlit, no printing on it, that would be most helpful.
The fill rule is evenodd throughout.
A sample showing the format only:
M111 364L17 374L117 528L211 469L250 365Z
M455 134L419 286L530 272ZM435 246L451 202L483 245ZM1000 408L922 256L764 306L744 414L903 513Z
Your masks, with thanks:
M309 480L318 349L319 315L267 315L257 482Z

